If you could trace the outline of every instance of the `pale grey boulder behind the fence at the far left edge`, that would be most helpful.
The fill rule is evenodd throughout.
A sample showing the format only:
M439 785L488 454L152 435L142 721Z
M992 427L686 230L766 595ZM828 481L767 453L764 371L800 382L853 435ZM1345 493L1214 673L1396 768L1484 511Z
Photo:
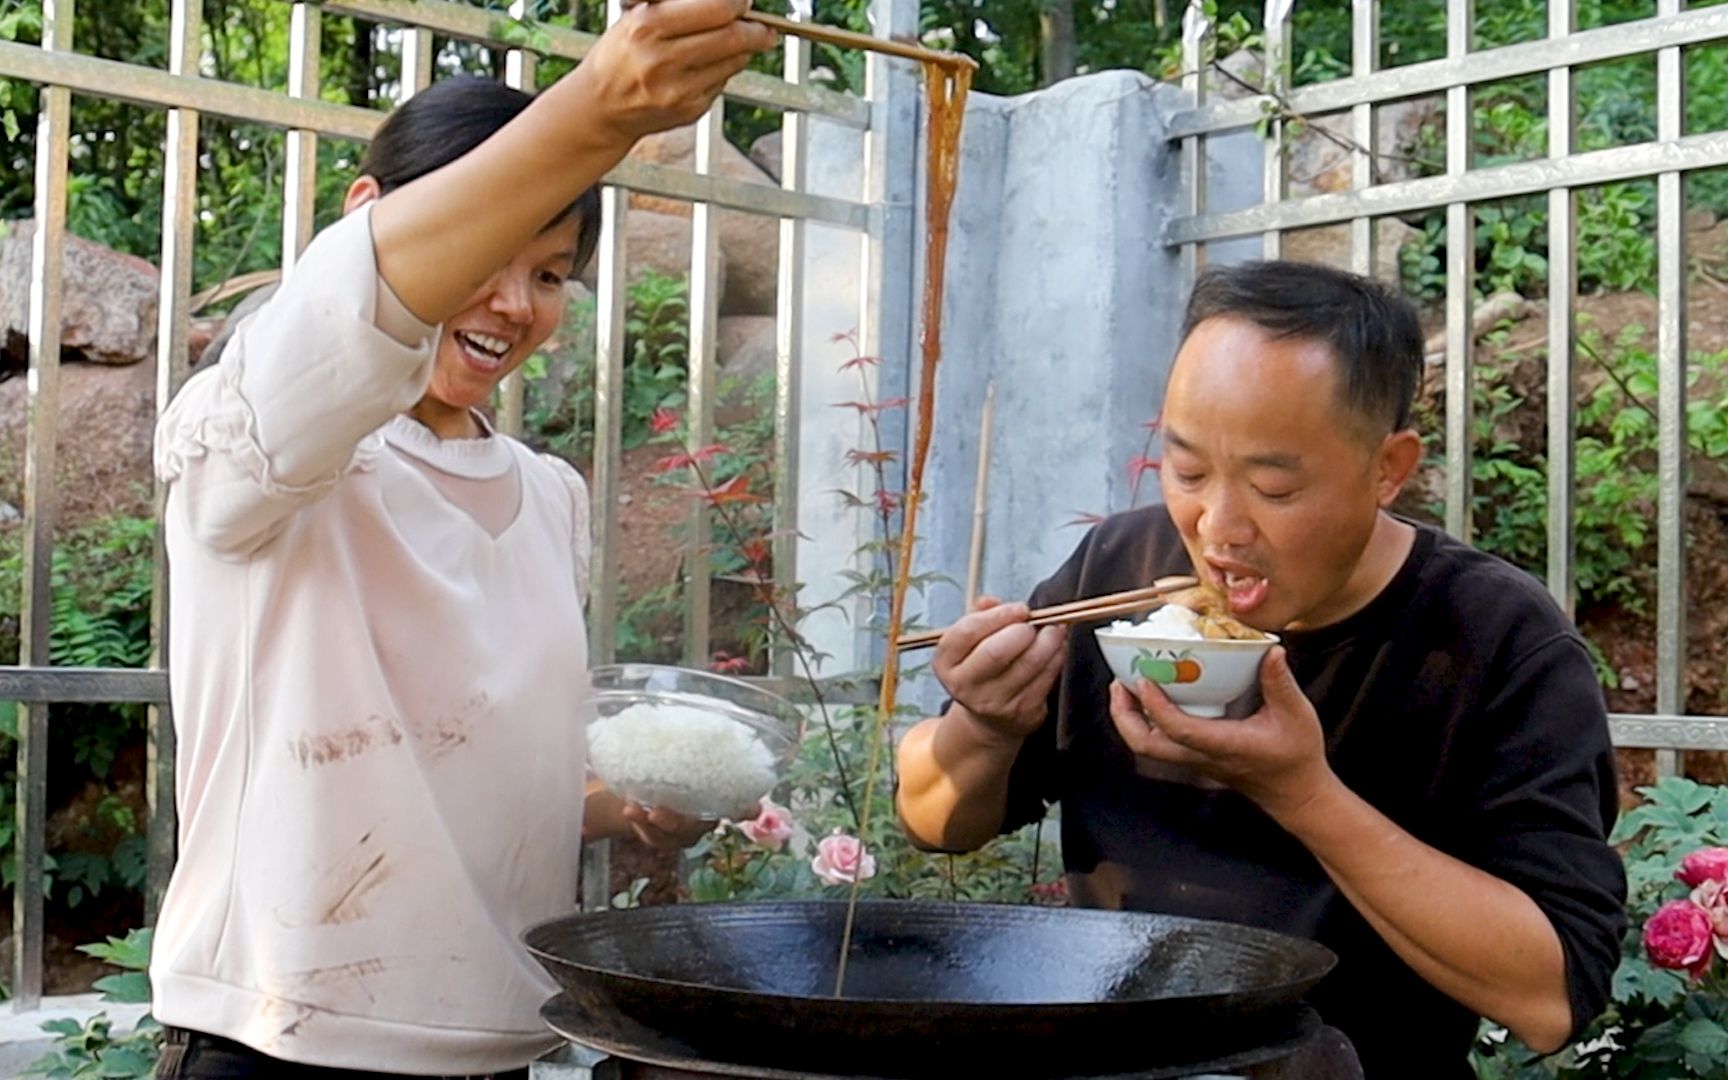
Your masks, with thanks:
M29 361L29 249L35 221L0 225L0 370ZM133 365L156 353L156 266L66 233L60 346L102 365Z

